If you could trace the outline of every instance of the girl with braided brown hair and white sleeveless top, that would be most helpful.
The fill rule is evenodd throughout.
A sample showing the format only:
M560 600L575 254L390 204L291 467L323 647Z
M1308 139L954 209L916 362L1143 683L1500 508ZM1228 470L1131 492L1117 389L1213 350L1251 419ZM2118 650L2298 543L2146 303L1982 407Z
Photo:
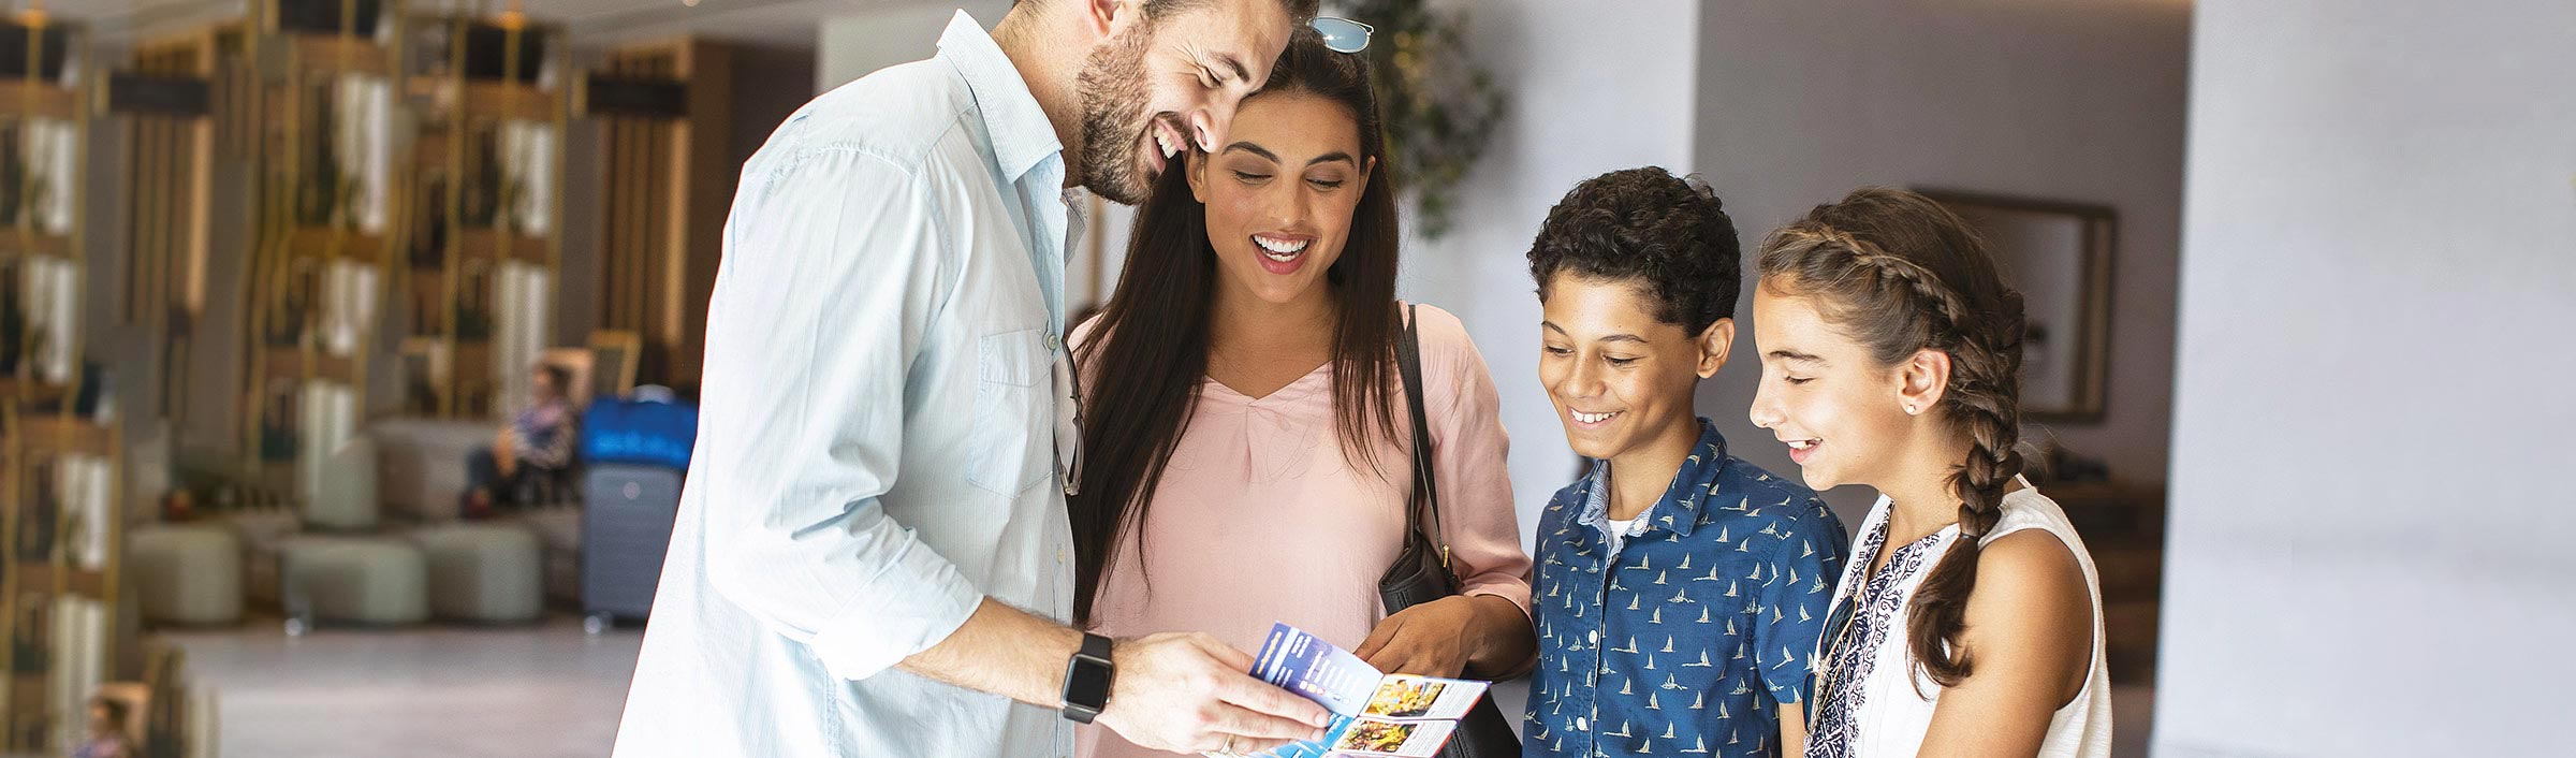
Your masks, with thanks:
M1940 204L1862 188L1762 240L1752 420L1880 492L1819 642L1808 758L2110 755L2092 554L2022 480L2022 296Z

